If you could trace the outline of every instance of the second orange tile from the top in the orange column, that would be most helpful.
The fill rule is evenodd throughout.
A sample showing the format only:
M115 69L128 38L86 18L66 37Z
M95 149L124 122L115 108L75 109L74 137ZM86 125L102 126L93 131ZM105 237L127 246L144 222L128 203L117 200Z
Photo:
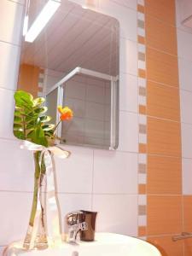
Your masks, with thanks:
M146 44L154 49L177 55L176 27L146 15Z

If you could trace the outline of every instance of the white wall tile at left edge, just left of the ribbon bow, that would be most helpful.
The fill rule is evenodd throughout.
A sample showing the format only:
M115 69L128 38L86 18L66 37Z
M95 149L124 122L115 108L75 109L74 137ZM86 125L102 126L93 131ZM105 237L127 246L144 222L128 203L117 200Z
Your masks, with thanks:
M33 154L20 149L20 143L19 140L0 140L0 190L33 191Z

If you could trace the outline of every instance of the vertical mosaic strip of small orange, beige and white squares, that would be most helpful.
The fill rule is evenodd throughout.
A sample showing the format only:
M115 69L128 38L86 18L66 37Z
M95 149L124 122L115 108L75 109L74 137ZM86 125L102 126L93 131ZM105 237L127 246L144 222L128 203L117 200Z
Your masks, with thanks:
M138 43L138 107L139 107L139 155L138 155L138 236L146 239L147 229L147 116L146 116L146 46L144 0L137 0Z

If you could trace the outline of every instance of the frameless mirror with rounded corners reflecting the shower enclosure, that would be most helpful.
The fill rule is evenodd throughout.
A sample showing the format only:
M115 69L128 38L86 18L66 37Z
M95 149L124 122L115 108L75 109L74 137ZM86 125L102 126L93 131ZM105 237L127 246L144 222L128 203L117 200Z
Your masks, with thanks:
M73 109L61 144L117 148L118 20L67 0L27 1L18 90L46 97L51 123L58 105Z

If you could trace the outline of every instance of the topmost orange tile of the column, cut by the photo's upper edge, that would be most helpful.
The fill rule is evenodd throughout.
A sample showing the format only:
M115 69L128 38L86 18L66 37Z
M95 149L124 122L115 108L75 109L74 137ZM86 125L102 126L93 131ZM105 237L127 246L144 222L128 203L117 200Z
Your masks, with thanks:
M175 26L175 0L145 0L145 14Z

